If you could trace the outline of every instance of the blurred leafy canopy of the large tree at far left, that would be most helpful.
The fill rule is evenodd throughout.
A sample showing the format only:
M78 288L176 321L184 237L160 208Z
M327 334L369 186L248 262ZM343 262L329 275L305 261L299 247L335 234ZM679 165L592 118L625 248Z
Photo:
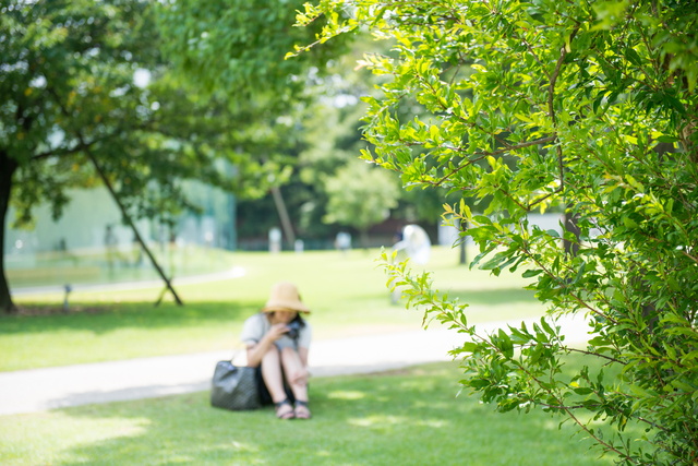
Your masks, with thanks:
M95 166L129 215L165 220L196 207L182 192L185 179L254 196L288 177L294 95L266 98L272 84L260 76L257 93L190 84L163 56L165 8L137 0L0 3L2 226L9 202L20 225L31 224L41 201L59 217L67 188L99 182ZM253 21L267 19L250 16L249 27ZM257 64L234 63L242 75ZM249 83L228 81L238 89ZM12 309L0 265L0 310Z

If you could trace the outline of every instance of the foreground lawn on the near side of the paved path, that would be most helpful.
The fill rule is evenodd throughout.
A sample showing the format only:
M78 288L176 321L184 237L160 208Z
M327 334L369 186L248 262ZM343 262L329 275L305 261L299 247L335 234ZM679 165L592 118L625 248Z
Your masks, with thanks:
M610 458L562 419L493 413L454 363L312 380L314 418L231 413L208 393L0 417L0 463L25 465L575 465Z

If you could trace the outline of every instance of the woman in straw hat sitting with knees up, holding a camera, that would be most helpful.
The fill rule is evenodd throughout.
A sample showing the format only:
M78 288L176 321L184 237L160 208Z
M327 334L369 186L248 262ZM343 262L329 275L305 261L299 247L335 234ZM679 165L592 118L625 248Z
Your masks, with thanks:
M296 285L274 285L262 311L242 326L248 366L256 367L263 405L276 406L279 419L310 419L308 408L308 348L311 328L299 312L309 313Z

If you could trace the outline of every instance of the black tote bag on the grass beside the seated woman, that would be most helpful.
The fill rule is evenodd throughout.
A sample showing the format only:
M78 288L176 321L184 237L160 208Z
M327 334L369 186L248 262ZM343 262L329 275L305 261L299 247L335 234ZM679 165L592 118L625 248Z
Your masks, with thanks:
M257 409L261 403L255 370L219 361L210 384L210 405L233 411Z

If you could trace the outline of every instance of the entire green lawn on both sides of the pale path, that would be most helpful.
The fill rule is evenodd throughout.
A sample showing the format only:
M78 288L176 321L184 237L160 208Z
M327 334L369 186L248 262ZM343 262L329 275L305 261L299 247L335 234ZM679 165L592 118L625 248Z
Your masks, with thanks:
M236 253L242 278L180 286L183 308L154 308L159 288L82 292L70 314L0 318L0 370L61 366L236 345L242 322L279 279L299 285L316 338L419 328L422 315L392 306L377 251ZM525 282L457 265L435 248L436 287L469 302L469 321L543 313ZM62 296L17 301L46 311ZM580 361L570 360L571 366ZM561 418L498 415L456 397L461 370L440 363L382 374L314 379L314 418L281 422L272 409L210 408L208 393L0 417L0 464L25 465L610 465Z

